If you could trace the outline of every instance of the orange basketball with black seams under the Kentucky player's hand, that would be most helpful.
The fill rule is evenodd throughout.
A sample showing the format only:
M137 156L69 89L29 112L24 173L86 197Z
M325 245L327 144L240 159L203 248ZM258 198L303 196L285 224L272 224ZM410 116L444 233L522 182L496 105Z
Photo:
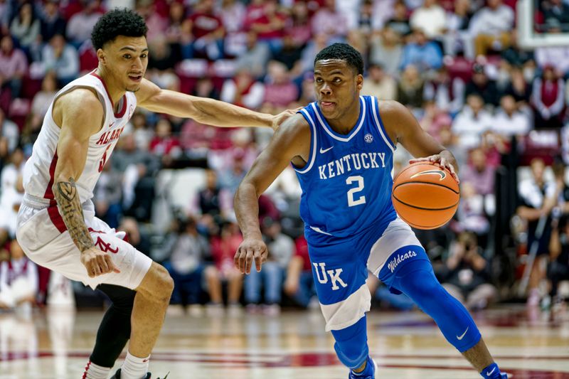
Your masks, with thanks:
M450 171L434 164L410 164L393 181L393 206L413 228L445 225L457 211L459 199L459 186Z

